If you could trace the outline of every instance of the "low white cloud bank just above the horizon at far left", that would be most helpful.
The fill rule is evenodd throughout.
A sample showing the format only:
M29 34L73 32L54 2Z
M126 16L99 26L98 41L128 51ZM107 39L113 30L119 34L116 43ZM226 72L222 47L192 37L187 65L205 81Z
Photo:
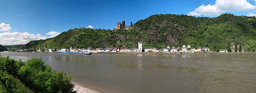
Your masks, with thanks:
M45 40L46 36L40 34L31 34L28 32L4 32L0 33L0 44L1 45L17 45L26 44L30 40Z

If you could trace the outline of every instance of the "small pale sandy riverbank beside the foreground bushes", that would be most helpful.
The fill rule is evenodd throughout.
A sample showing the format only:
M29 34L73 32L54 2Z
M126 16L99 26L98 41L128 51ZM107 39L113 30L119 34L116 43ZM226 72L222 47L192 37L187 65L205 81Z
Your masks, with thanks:
M74 82L73 82L74 83ZM99 91L96 91L92 88L88 88L86 86L82 86L78 83L74 83L74 90L77 92L77 93L101 93Z

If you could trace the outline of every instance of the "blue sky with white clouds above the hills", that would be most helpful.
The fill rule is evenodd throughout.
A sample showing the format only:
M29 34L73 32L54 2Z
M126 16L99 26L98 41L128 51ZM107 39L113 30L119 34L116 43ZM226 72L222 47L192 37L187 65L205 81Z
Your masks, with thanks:
M227 1L238 1L238 5ZM254 0L0 0L0 23L6 28L11 27L0 31L0 44L26 44L30 40L54 37L68 29L89 25L112 29L116 22L135 23L160 13L254 16L255 5ZM14 32L20 37L12 36ZM18 40L24 36L27 38Z

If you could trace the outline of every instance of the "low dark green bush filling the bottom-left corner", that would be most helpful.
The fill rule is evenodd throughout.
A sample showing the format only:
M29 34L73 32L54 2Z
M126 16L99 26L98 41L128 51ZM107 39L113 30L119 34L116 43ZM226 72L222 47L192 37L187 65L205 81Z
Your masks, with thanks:
M17 78L0 70L0 93L33 93Z

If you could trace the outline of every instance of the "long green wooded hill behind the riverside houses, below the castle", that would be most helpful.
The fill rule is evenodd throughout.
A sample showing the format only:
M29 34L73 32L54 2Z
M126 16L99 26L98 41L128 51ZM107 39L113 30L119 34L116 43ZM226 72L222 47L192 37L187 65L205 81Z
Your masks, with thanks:
M33 40L26 48L38 49L73 47L143 47L207 46L210 49L226 49L227 43L242 43L256 48L256 17L222 14L216 18L193 17L176 14L156 14L139 20L132 30L102 30L75 28L47 40Z

